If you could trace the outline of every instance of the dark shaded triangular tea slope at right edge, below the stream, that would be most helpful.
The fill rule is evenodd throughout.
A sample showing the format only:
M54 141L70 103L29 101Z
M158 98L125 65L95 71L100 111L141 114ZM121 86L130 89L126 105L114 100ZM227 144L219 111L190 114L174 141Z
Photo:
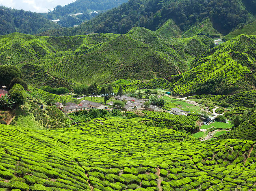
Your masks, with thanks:
M234 130L222 134L219 139L247 139L256 140L256 113L251 115L248 120L243 122Z

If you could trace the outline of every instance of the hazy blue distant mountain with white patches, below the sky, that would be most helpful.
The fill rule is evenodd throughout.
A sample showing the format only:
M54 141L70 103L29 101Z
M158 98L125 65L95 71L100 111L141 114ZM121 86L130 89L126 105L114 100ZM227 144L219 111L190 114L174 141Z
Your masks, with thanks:
M73 27L125 2L127 0L76 0L42 15L49 20L59 19L58 24L62 27Z

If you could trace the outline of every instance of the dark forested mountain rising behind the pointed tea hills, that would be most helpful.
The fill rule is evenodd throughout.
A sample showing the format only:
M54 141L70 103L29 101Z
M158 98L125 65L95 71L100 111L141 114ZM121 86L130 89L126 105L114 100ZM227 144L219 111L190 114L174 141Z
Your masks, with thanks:
M129 0L77 28L47 31L41 35L65 36L90 32L125 34L136 26L155 31L169 19L184 32L208 17L213 28L226 35L238 24L247 22L248 7L245 2L247 0L213 0L210 3L204 0ZM256 8L256 5L252 4L251 8Z

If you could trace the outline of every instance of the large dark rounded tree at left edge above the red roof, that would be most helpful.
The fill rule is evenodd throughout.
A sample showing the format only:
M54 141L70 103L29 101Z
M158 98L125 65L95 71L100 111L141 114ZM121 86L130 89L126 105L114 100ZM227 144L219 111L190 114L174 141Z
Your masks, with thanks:
M0 66L0 87L10 85L14 78L22 79L22 72L19 68L13 65Z

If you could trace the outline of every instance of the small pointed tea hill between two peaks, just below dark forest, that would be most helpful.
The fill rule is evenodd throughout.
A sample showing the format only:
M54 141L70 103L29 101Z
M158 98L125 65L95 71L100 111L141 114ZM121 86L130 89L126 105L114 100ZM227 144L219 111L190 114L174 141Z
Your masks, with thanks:
M213 28L213 23L210 21L209 18L204 20L199 25L196 25L195 27L192 27L189 30L187 30L186 32L184 32L184 34L182 34L182 38L192 37L197 34L203 34L203 35L209 36L211 38L221 36L221 34Z

